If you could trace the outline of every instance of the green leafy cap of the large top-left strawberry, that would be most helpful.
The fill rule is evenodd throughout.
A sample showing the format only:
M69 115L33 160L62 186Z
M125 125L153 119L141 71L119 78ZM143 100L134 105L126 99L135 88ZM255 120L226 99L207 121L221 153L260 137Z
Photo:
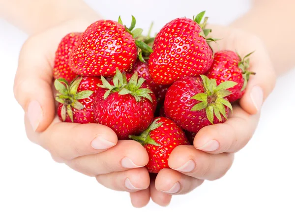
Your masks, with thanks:
M121 20L121 16L119 16L118 18L118 23L123 25L123 22ZM132 35L132 37L135 40L135 44L137 46L137 51L138 51L138 57L139 59L143 60L143 62L145 62L144 60L144 56L143 54L150 54L153 52L152 48L148 46L148 44L150 43L150 41L154 41L154 39L152 38L148 38L148 39L143 39L142 38L142 33L143 33L143 29L142 28L135 28L136 25L136 19L135 17L132 15L132 21L131 21L131 26L129 28L125 27L125 30ZM134 29L135 28L135 29Z

